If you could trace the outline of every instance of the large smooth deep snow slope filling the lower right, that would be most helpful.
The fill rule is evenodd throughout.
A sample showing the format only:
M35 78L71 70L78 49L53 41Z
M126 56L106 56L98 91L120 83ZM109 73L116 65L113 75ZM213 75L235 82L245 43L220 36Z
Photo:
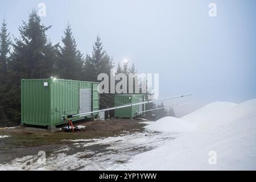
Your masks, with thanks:
M162 125L167 120L173 121L172 118L163 118L147 128L165 132L167 129ZM214 102L176 119L175 127L179 128L179 121L180 127L187 121L196 123L200 130L183 133L162 147L135 155L121 169L256 169L256 99L242 104ZM216 164L209 163L211 152L216 154Z

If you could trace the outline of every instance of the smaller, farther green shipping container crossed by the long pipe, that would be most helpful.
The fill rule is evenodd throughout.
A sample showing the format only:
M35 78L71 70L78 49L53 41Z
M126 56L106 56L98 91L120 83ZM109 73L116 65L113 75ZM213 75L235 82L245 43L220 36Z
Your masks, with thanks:
M125 104L132 104L136 102L145 101L144 94L115 94L115 106L121 106ZM145 105L137 105L131 107L125 107L121 109L115 109L115 117L117 118L134 118L137 112L144 111ZM140 113L143 115L144 113Z

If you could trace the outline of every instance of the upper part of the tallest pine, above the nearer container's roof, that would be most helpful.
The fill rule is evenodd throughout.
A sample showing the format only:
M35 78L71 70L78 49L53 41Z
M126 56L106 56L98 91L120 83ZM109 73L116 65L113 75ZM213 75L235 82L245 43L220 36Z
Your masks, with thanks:
M19 27L21 39L15 39L11 69L15 78L48 78L53 73L57 45L47 40L46 27L35 10L29 16L28 23L23 21Z

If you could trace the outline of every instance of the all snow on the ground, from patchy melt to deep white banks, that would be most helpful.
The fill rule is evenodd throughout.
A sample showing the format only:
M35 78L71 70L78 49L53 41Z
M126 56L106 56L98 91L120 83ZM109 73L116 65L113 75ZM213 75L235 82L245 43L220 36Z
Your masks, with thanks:
M24 156L0 170L256 169L256 99L214 102L182 118L147 123L144 133L71 140L47 156ZM69 154L77 148L79 151Z

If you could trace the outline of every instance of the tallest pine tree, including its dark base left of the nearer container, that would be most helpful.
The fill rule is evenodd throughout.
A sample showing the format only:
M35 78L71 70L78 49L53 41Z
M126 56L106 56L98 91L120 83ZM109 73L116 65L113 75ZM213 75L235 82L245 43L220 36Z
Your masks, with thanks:
M13 124L20 123L20 78L48 78L53 74L58 49L47 40L49 28L41 24L35 10L29 15L28 23L23 22L19 27L20 39L15 39L13 44L9 80L2 99L5 113Z

